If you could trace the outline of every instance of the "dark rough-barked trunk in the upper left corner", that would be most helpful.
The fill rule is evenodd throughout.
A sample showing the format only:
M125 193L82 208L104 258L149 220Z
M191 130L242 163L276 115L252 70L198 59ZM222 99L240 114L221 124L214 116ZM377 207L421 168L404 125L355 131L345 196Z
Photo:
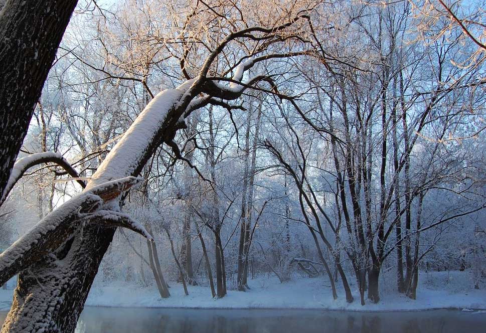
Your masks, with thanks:
M26 0L0 5L0 193L76 3Z

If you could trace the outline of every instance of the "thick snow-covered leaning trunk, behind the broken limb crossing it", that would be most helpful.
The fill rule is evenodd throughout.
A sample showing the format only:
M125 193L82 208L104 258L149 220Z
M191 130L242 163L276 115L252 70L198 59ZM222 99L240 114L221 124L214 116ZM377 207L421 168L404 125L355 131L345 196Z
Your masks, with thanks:
M155 96L106 156L85 191L108 181L139 175L155 148L171 141L181 127L179 119L187 108L187 99L192 97L184 93L193 83L193 80L187 81L177 89ZM107 201L105 209L119 210L117 198L119 196ZM62 211L63 207L56 211ZM74 331L116 228L79 223L76 229L71 238L52 251L52 256L43 257L19 274L13 305L2 333L39 329Z

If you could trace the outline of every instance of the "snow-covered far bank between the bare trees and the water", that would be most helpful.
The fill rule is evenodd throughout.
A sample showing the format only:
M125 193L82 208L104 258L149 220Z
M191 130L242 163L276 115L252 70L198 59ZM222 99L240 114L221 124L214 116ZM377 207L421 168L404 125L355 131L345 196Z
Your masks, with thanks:
M417 299L397 293L395 279L380 281L381 300L378 304L361 306L358 292L355 301L346 303L344 291L338 289L339 298L333 300L329 280L324 278L295 278L279 283L274 277L249 281L246 292L228 290L222 299L212 299L209 287L188 286L184 296L182 284L170 283L171 297L161 299L156 286L140 287L127 282L95 285L86 305L123 307L193 307L193 308L319 308L362 311L416 310L431 308L486 309L486 290L472 288L469 272L424 272L420 276ZM352 284L352 289L356 285ZM0 290L0 309L8 309L13 290Z

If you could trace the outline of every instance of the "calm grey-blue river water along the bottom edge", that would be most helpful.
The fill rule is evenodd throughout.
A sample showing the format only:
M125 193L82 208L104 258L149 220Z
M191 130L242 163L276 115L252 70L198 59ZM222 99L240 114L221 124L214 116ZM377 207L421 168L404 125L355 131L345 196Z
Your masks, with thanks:
M0 313L3 322L5 313ZM485 333L486 314L458 310L148 309L87 307L76 333Z

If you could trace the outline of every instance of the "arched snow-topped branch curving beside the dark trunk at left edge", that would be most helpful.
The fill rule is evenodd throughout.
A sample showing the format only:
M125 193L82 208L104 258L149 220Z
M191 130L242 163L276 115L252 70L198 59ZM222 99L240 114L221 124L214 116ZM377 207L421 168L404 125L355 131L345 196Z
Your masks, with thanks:
M26 157L19 158L12 169L9 181L5 187L2 196L0 196L0 206L5 202L10 191L14 188L15 184L22 178L27 170L41 163L56 163L63 168L69 176L73 178L79 178L78 172L71 166L71 164L61 154L54 152L37 152ZM86 184L82 180L76 180L79 185L84 189Z

